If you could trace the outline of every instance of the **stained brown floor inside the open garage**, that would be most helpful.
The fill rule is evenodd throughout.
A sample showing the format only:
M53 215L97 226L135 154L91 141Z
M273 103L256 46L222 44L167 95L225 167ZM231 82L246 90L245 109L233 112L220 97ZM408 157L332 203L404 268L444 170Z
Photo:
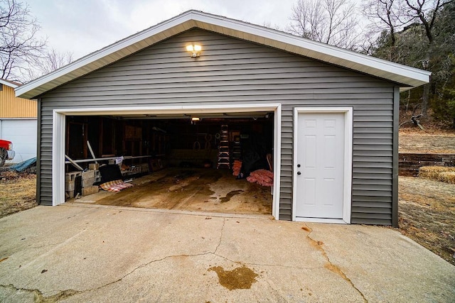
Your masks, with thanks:
M168 168L133 180L122 192L98 192L69 202L149 209L272 214L270 187L235 180L228 170Z

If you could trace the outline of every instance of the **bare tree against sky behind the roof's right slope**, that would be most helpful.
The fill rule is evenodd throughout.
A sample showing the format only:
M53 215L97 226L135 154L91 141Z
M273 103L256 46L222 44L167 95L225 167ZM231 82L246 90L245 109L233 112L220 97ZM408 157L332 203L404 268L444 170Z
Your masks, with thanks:
M350 0L299 0L290 20L294 35L350 50L357 46L358 16Z

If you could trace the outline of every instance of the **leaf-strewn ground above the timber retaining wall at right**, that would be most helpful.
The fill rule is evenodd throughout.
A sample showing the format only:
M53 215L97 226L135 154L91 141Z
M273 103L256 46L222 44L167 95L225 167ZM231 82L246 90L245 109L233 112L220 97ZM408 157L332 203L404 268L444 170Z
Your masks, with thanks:
M400 153L455 153L455 132L400 130Z

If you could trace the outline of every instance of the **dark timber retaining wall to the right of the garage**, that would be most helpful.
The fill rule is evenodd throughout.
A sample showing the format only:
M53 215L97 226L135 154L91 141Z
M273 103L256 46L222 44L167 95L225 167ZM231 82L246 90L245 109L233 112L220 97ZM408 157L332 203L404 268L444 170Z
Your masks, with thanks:
M455 166L455 153L400 153L398 156L400 176L417 177L422 166Z

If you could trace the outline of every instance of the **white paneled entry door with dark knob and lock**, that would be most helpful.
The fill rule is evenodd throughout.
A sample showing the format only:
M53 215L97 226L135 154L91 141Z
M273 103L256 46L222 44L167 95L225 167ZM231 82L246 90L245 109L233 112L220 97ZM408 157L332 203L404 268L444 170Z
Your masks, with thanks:
M296 116L296 217L343 219L345 116L345 112L300 112Z

